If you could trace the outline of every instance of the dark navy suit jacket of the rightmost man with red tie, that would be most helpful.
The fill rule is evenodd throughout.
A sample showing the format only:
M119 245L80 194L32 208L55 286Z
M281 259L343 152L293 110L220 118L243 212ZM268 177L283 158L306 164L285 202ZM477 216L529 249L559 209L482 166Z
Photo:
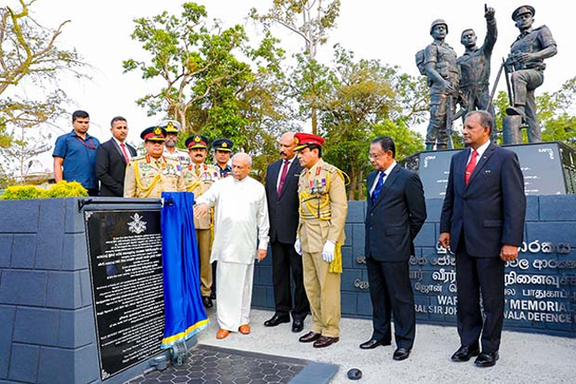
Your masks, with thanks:
M524 234L526 199L518 156L488 145L466 185L469 156L470 149L464 149L450 161L440 232L450 232L453 252L463 233L469 255L499 257L503 244L520 246Z

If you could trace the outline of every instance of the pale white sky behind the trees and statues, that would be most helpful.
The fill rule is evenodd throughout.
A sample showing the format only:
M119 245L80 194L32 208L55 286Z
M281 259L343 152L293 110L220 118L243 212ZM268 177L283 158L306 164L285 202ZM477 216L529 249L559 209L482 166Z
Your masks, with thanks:
M432 43L429 35L432 20L444 19L448 23L446 43L451 45L458 56L463 53L460 34L463 29L473 28L478 35L479 45L486 35L484 19L484 1L479 0L404 0L388 2L385 0L341 0L340 16L337 27L330 33L328 43L319 50L318 59L329 64L332 59L332 46L340 43L346 50L354 51L356 59L379 59L383 64L401 67L401 71L419 75L415 64L416 51ZM7 0L15 6L15 0ZM253 41L261 33L246 15L251 8L263 13L269 9L272 0L198 0L206 6L208 19L222 21L224 27L235 24L245 26ZM182 0L137 1L137 0L36 0L30 11L44 27L58 27L64 20L63 34L58 37L62 48L75 48L82 59L90 64L85 68L91 80L70 80L58 84L65 90L75 109L84 109L90 113L90 134L105 141L110 137L110 120L122 115L128 120L128 141L139 143L140 132L164 116L147 116L146 110L136 106L136 99L149 91L157 90L158 83L144 81L137 71L122 73L122 60L148 59L139 43L132 41L130 34L134 30L133 20L152 17L160 12L180 13ZM511 13L524 2L501 0L488 4L495 8L498 26L498 41L492 58L492 83L502 57L510 52L510 44L518 36L518 28L511 20ZM533 0L534 27L547 25L557 41L557 56L547 59L544 84L536 91L559 90L562 84L574 77L573 60L576 59L573 42L573 14L576 4L555 0ZM282 27L274 29L282 40L287 55L299 52L303 47L301 38L288 34ZM505 90L501 79L498 90ZM156 87L155 87L156 85ZM21 85L19 92L34 94L31 85ZM309 130L306 123L302 129ZM55 135L72 129L70 121L58 121ZM423 133L424 126L413 127ZM37 168L51 167L50 156L42 159ZM41 169L35 169L41 170Z

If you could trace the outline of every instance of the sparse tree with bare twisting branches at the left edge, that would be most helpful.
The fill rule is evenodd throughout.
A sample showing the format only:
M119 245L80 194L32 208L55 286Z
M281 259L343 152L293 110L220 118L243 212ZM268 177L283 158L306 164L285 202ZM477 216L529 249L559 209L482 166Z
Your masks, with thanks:
M15 162L20 175L24 162L50 149L29 146L23 137L37 137L29 130L64 114L61 105L67 98L58 81L66 73L86 77L76 70L85 66L76 51L57 46L58 36L69 20L56 29L41 26L29 15L34 2L19 0L18 10L8 5L0 7L0 148L4 148L4 163ZM43 96L38 100L29 95L20 98L17 87L22 83L33 84ZM4 168L4 172L8 170Z

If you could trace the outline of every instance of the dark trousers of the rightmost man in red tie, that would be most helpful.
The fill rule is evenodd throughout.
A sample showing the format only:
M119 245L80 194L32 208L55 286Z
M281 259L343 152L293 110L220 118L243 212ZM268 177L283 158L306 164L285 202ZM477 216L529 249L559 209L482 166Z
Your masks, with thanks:
M504 322L504 262L498 256L468 255L461 235L456 251L456 284L456 320L461 344L477 346L481 333L482 352L497 351Z

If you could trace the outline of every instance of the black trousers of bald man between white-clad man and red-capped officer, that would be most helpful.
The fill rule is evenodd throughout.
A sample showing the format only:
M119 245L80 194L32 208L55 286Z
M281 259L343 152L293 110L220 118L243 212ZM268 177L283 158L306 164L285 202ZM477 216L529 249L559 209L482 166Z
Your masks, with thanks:
M272 281L276 314L284 316L292 313L293 319L304 320L310 311L310 305L304 289L302 256L296 253L293 244L284 244L275 240L272 241L270 247L272 248ZM293 306L291 270L294 280Z

